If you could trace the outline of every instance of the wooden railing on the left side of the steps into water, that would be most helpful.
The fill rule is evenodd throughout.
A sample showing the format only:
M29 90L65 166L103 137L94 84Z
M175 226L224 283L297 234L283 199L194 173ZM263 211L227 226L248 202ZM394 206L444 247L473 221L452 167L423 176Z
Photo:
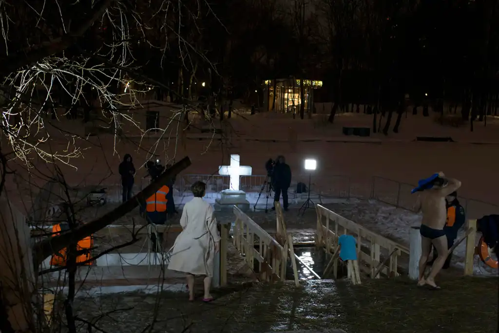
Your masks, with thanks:
M237 206L234 206L234 215L234 245L250 268L255 267L256 260L261 281L284 281L286 260L282 246Z

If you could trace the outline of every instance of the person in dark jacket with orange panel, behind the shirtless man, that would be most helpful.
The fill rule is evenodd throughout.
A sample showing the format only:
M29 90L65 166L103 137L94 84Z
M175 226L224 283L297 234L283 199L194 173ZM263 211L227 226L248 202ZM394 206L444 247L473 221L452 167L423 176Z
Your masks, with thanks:
M456 191L452 192L445 197L446 208L447 208L447 222L444 226L444 232L447 236L447 246L449 249L454 245L456 238L458 238L458 231L466 222L465 209L459 203L458 193ZM433 248L433 259L428 262L428 265L432 265L435 259L437 259L437 250ZM449 254L447 260L445 261L443 269L448 269L451 264L452 253Z

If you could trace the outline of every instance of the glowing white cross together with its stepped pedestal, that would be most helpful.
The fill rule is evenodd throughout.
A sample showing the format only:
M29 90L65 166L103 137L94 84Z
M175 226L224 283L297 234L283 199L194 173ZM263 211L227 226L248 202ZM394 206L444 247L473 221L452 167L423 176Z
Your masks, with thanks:
M231 210L233 206L238 206L243 211L250 210L250 202L246 200L246 192L239 189L239 177L242 175L251 175L251 166L241 166L241 157L231 155L230 166L219 166L219 173L230 175L230 189L220 192L220 199L215 200L215 211Z

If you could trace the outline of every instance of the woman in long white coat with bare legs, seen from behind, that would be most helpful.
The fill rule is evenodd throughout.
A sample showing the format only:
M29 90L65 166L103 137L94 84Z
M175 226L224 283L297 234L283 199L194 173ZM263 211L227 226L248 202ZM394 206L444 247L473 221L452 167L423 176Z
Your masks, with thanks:
M187 274L189 301L194 301L194 276L204 275L204 302L214 300L210 294L215 253L220 249L217 220L211 204L203 200L206 184L191 186L194 198L186 203L180 218L183 231L175 240L168 269Z

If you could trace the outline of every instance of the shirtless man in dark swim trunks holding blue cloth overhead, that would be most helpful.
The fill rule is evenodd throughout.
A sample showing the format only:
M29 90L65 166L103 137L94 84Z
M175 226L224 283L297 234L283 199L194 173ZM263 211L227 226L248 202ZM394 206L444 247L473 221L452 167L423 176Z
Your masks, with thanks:
M443 172L438 173L429 183L421 186L419 191L419 208L423 212L421 221L421 247L422 254L419 259L418 286L425 284L433 289L440 289L435 284L435 277L444 266L447 258L447 237L444 226L447 220L445 197L461 187L461 181L447 178ZM433 246L437 249L438 258L433 263L430 275L425 279L425 268Z

